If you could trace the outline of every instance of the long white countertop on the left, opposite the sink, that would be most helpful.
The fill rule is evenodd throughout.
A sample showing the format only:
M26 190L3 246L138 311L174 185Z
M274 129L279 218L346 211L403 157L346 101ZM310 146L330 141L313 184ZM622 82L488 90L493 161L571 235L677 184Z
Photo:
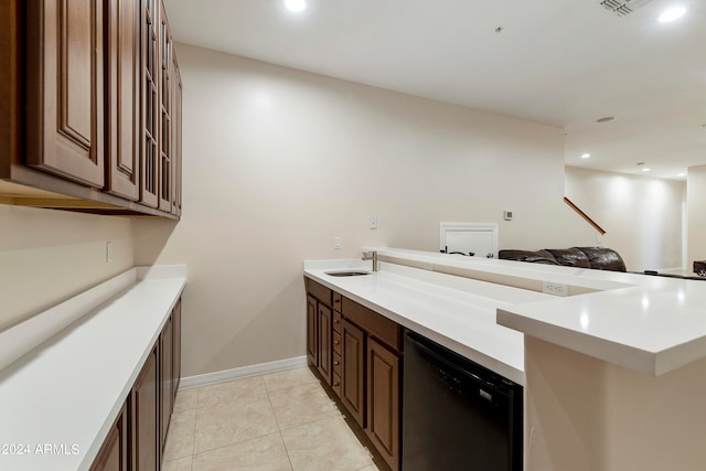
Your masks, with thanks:
M116 279L125 289L108 298L101 286L81 295L84 306L99 306L0 370L0 469L93 463L185 286L186 267L133 268ZM62 304L50 311L44 318ZM43 314L34 322L53 323ZM24 335L20 325L2 335Z

